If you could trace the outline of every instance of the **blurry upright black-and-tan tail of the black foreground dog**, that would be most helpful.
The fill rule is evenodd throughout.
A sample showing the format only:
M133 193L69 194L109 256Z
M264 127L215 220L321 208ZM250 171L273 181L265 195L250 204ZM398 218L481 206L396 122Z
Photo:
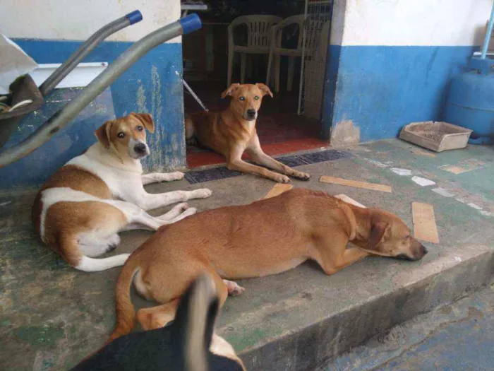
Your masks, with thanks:
M181 369L209 370L209 348L219 310L215 283L199 276L183 295L174 321L174 347L180 354Z

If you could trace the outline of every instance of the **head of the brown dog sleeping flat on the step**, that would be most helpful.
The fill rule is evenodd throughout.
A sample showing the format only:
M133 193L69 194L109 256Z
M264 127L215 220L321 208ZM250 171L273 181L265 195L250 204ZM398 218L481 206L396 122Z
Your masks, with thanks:
M355 243L371 254L397 259L419 260L427 254L427 249L411 236L410 228L393 213L376 208L370 212L368 236Z

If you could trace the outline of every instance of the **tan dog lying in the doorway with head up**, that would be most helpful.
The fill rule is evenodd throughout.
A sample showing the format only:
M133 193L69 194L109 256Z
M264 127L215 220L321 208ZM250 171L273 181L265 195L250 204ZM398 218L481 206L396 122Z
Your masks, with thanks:
M270 95L272 98L270 88L263 83L231 84L222 93L222 98L231 97L227 110L198 112L185 120L188 143L197 140L200 146L224 155L227 159L227 167L231 170L260 175L280 183L290 182L287 175L308 180L311 175L279 163L260 148L258 134L255 131L255 120L258 118L258 111L265 95ZM248 153L255 163L282 174L246 163L242 160L243 152Z

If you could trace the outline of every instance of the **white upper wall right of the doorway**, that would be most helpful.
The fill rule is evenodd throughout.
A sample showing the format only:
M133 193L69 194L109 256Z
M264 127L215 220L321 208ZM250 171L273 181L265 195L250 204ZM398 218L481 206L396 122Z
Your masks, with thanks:
M336 3L332 45L471 46L483 42L493 0L339 0Z

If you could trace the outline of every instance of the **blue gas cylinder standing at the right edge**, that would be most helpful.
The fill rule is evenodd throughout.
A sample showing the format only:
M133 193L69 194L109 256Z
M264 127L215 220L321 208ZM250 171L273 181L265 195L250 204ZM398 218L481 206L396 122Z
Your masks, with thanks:
M490 67L453 78L447 95L444 121L473 130L471 143L494 140L494 71Z

